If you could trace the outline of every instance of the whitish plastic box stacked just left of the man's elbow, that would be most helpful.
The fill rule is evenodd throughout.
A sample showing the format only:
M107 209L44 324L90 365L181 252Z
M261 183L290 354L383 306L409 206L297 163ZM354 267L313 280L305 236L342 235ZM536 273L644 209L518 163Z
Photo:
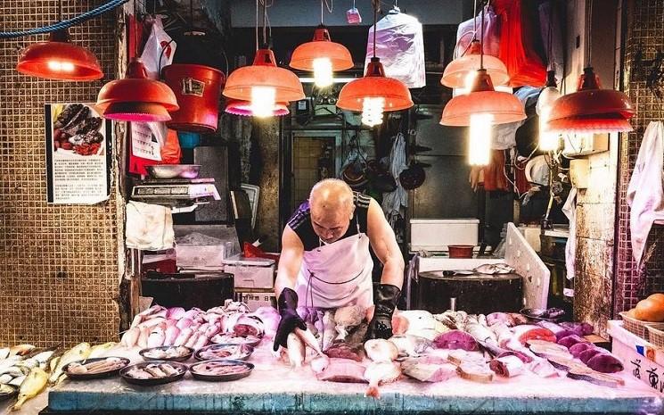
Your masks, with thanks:
M272 289L275 286L275 261L234 255L224 260L224 272L234 275L235 290Z

